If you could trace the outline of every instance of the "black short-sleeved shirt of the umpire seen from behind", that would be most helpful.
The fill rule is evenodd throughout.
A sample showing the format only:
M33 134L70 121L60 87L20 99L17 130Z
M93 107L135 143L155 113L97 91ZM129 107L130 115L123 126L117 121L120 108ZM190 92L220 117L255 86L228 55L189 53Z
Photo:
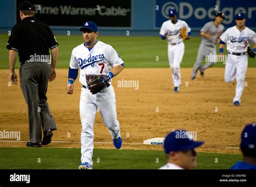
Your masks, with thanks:
M58 46L50 27L35 17L26 17L12 27L6 48L19 54L19 61L29 60L30 55L49 55L49 48Z

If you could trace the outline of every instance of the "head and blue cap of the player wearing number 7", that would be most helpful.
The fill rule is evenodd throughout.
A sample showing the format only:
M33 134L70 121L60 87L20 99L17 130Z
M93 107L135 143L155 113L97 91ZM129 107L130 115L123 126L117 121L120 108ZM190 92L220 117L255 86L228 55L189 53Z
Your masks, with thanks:
M83 39L85 44L91 44L95 42L99 35L98 26L92 21L85 22L79 31L83 32Z

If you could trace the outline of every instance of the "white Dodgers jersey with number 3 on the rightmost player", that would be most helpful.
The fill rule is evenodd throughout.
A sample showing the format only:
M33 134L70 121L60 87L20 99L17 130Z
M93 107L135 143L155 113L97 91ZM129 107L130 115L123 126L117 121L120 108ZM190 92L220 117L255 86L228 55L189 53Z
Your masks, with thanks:
M248 27L242 31L239 31L236 26L230 27L221 34L220 39L227 43L227 51L234 53L247 52L249 40L252 44L256 44L255 32Z

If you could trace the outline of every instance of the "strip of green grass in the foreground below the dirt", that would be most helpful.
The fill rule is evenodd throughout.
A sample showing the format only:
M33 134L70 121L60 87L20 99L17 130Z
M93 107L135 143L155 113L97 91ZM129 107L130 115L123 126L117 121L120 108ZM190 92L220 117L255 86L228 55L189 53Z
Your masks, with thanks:
M199 153L197 169L228 169L241 159L237 154ZM78 169L80 149L0 148L0 160L0 169ZM93 169L158 169L166 156L161 150L94 149L93 161Z

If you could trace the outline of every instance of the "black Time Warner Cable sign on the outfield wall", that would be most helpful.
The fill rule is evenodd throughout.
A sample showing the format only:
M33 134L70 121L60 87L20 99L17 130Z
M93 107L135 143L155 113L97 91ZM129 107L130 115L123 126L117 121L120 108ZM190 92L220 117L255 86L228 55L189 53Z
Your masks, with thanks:
M16 4L23 0L17 0ZM35 5L35 17L53 26L82 26L94 21L103 27L131 27L131 0L126 1L45 1L30 0ZM21 21L17 12L17 21Z

